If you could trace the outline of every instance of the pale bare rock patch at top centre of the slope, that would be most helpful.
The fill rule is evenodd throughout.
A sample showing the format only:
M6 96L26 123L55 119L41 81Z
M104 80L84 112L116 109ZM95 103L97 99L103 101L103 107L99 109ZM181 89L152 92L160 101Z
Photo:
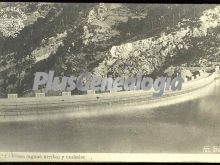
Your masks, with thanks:
M100 3L96 5L89 11L87 23L83 27L83 43L85 45L102 43L119 36L120 31L115 29L115 26L118 23L126 23L130 17L135 17L135 14L123 4Z

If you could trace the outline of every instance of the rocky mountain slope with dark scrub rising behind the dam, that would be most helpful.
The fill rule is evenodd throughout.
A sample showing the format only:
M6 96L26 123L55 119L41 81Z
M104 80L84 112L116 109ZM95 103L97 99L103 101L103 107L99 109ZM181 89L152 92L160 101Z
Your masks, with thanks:
M1 3L26 15L16 38L0 34L0 95L23 95L34 73L158 75L219 58L220 6Z

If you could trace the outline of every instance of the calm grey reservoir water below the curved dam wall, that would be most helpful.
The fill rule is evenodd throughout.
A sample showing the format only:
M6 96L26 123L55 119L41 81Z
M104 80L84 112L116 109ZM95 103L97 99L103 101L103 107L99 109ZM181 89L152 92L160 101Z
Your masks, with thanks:
M0 123L0 152L202 153L220 146L220 80L210 90L132 113Z

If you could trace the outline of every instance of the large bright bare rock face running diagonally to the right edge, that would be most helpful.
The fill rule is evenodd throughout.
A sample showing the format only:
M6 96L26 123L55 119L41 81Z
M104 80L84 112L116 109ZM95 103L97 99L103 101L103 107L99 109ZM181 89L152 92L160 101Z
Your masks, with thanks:
M182 26L172 33L113 46L107 58L95 69L95 73L105 75L111 70L120 75L137 74L140 71L151 74L164 65L162 58L177 56L178 50L192 47L190 39L204 37L209 29L220 26L219 15L220 6L217 6L203 12L196 22L198 27L184 27L180 22Z

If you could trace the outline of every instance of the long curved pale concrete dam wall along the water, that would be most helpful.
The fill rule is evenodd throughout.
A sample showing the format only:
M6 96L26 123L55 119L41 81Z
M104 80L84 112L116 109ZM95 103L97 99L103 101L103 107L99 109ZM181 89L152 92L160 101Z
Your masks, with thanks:
M23 120L61 116L93 116L123 113L134 109L148 109L167 106L206 95L213 85L216 73L183 83L180 91L165 91L162 97L153 97L148 91L124 91L72 96L50 96L0 99L0 121ZM40 118L41 118L40 117Z

